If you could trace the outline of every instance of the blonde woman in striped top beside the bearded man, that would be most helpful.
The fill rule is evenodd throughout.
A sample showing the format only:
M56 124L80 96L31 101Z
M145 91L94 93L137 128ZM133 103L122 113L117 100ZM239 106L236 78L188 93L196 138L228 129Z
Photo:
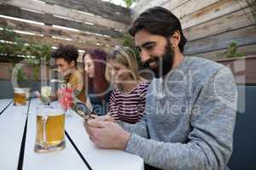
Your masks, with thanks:
M138 74L137 58L131 48L116 47L108 56L106 77L114 89L109 113L114 120L136 123L144 114L148 82Z

